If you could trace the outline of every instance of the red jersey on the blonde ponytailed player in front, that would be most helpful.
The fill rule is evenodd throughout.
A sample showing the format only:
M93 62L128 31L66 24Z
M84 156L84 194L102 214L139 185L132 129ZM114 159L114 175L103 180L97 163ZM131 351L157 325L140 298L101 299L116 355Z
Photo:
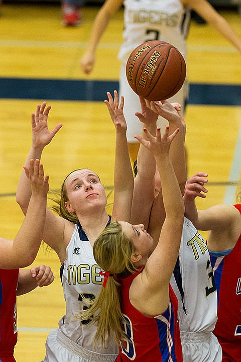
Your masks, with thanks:
M177 320L178 301L171 288L167 310L156 317L147 317L130 302L129 290L139 270L120 280L122 312L126 319L125 332L129 342L121 343L116 362L182 362L182 347Z

